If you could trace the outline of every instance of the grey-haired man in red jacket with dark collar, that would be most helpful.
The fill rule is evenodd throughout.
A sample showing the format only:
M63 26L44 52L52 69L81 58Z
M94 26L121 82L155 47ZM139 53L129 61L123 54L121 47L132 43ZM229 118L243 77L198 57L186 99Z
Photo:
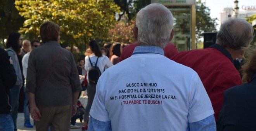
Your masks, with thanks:
M214 109L215 120L223 104L223 92L242 84L233 60L243 54L253 39L253 27L246 20L235 18L223 22L217 44L206 49L181 52L171 58L197 72Z

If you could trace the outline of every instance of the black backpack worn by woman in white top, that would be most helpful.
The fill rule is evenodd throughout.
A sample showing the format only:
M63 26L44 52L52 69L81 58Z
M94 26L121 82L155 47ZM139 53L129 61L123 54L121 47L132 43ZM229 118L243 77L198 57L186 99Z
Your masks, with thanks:
M91 67L88 69L88 74L87 74L88 79L89 79L89 83L90 84L97 84L97 82L99 80L99 77L101 75L100 69L99 69L99 67L97 67L97 62L98 62L99 57L97 58L95 66L92 65L90 57L88 57L88 58L89 58L89 61L90 61L90 64L91 64Z

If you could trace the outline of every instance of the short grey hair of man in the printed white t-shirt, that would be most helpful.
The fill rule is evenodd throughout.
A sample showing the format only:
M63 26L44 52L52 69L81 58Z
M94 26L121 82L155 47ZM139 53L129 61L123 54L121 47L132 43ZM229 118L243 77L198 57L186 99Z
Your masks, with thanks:
M152 3L138 12L136 25L138 45L164 48L170 42L173 15L164 5Z

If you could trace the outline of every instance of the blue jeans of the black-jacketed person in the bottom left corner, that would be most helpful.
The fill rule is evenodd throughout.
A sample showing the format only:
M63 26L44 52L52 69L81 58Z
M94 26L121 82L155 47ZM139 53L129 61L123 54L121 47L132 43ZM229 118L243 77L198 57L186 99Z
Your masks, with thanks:
M0 114L0 131L13 131L13 121L10 114Z

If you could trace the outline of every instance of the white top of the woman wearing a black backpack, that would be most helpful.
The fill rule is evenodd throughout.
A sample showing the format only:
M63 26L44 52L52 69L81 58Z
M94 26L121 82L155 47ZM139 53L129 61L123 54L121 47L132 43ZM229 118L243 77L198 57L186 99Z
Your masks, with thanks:
M92 61L92 65L95 66L97 61L97 56L90 55L90 60ZM112 62L109 60L109 58L106 55L102 55L102 57L99 57L97 62L97 67L99 67L101 74L106 70L107 68L113 66ZM88 69L92 67L89 61L89 57L85 57L85 71L88 73ZM88 80L88 75L86 76L86 80Z

